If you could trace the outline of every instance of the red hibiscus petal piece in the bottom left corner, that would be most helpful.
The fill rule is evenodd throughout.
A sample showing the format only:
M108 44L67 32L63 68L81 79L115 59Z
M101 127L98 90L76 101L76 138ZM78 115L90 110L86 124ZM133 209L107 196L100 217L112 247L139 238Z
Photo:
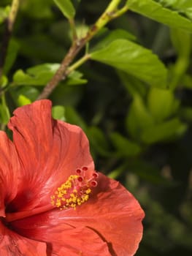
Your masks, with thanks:
M3 256L47 256L47 245L18 236L0 222L0 252Z

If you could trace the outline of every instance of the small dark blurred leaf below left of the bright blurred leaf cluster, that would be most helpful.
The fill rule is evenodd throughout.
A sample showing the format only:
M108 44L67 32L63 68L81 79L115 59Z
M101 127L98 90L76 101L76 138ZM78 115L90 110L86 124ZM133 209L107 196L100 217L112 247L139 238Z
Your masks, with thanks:
M118 132L113 132L110 135L113 145L116 148L118 157L136 156L141 152L141 147L137 144L123 137Z

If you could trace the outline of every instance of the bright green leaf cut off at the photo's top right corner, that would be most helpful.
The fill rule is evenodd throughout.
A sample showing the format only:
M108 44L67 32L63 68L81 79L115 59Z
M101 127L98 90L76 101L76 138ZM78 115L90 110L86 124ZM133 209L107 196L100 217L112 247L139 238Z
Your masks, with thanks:
M168 2L168 1L167 1ZM153 0L128 0L126 2L128 8L148 18L164 23L172 28L185 29L192 32L192 22L179 12L164 7L163 4ZM178 8L179 10L179 8Z

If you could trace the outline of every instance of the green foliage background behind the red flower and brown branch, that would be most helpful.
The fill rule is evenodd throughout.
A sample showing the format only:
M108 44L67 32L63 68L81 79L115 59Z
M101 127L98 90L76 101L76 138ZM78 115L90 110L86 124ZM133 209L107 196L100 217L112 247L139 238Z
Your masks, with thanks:
M66 18L76 10L81 38L110 3L66 1L59 10L56 2L20 1L1 67L1 129L7 131L15 108L37 99L68 52ZM1 0L1 46L11 3ZM82 127L96 170L118 179L141 203L146 217L137 256L191 255L192 3L120 4L128 12L93 37L74 59L89 53L88 61L50 94L53 116Z

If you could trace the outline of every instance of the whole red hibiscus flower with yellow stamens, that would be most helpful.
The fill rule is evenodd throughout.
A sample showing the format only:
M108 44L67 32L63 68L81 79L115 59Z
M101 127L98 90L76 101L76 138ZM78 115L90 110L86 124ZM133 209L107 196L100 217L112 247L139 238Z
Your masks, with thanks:
M144 213L94 169L80 127L53 120L51 102L15 110L0 132L2 256L131 256Z

